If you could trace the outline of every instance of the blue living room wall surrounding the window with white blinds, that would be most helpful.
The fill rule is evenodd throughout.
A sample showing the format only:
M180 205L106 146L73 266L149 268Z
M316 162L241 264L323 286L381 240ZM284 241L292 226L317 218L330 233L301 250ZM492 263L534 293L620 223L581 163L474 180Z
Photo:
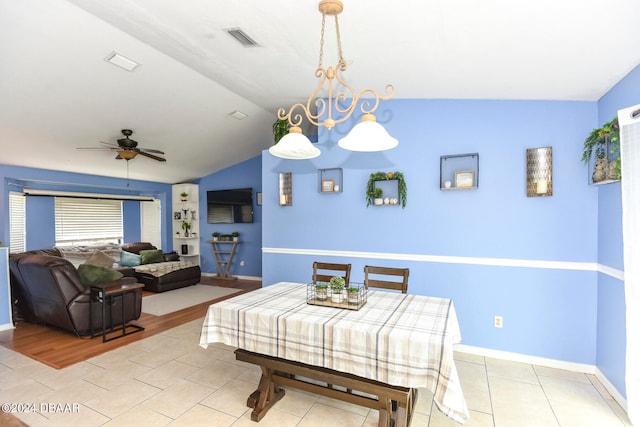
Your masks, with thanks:
M75 174L45 169L23 168L0 165L3 178L0 190L0 212L3 213L3 232L0 240L9 242L9 192L22 191L23 186L31 189L57 191L81 191L88 193L151 195L162 204L163 249L172 249L171 226L171 185L148 181L127 182L126 179L108 178L97 175ZM127 185L128 184L128 185ZM26 250L50 248L55 245L55 209L53 197L27 197L26 205ZM140 203L123 202L124 240L140 240Z

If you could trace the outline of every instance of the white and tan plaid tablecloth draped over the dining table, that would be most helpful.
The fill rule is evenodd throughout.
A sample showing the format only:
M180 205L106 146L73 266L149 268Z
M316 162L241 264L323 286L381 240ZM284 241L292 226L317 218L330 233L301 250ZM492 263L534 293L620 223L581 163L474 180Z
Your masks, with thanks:
M453 361L460 327L444 298L369 290L358 311L306 303L306 285L282 282L209 307L200 345L214 342L390 385L426 388L463 423L469 412Z

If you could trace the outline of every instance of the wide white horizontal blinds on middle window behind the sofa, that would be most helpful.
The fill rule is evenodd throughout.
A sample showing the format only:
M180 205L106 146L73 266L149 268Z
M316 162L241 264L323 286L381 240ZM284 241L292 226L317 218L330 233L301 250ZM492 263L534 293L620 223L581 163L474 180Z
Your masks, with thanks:
M122 241L122 202L55 198L56 245Z

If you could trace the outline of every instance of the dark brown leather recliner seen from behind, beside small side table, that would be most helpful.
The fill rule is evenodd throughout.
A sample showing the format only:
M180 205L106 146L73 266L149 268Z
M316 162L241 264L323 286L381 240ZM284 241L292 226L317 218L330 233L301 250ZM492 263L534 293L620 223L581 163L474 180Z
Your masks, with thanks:
M95 330L102 327L102 310L98 301L91 301L73 264L64 258L48 255L10 255L12 299L20 300L24 319L32 323L57 326L77 335L88 335L91 323ZM123 277L114 285L136 283L133 277ZM89 305L93 319L89 319ZM114 298L107 309L107 324L122 324L123 298ZM124 322L140 317L142 291L137 289L124 297ZM111 319L113 316L113 319Z

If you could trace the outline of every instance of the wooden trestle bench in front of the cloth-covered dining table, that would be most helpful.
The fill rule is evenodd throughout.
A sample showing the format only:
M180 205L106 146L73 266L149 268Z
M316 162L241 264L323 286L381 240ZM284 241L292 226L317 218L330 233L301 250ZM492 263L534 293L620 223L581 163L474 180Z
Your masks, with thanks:
M280 387L292 387L377 409L379 427L406 427L411 420L417 397L415 389L242 349L236 350L235 354L236 360L258 365L262 370L258 389L247 399L247 406L253 408L253 421L260 421L269 408L284 396L285 391Z

